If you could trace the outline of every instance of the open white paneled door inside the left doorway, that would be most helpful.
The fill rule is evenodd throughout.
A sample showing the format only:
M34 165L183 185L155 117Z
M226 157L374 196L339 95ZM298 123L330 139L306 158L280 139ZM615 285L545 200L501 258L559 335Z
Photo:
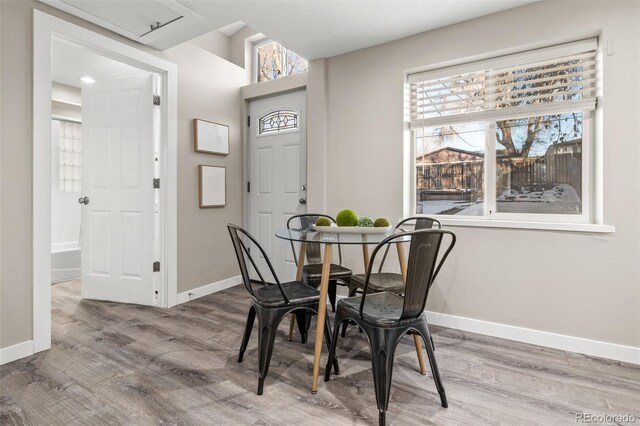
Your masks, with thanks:
M154 304L152 75L82 87L82 297Z

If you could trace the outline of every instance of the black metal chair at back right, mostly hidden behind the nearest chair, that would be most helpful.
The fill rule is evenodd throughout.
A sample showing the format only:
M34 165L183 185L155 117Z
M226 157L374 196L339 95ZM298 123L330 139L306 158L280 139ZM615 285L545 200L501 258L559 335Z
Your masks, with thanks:
M437 226L438 229L442 228L442 224L438 219L430 217L418 216L408 217L402 219L395 226L395 232L408 231L411 229L432 229ZM369 277L369 286L367 288L368 293L380 293L382 291L390 291L396 294L404 294L404 279L402 274L396 272L382 272L382 268L387 260L390 246L387 246L378 266L378 272L372 273ZM365 274L355 274L351 277L349 282L349 297L353 297L357 292L364 289ZM348 322L342 325L342 337L345 337L347 333Z

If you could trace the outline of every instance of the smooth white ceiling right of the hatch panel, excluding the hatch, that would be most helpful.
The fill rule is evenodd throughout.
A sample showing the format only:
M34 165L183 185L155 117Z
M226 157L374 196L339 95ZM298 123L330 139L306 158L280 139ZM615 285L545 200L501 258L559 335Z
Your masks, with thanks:
M241 20L299 55L316 59L386 43L535 0L179 1L204 17L191 27L192 32L204 33ZM163 41L164 48L199 35L188 32L175 34L171 41Z

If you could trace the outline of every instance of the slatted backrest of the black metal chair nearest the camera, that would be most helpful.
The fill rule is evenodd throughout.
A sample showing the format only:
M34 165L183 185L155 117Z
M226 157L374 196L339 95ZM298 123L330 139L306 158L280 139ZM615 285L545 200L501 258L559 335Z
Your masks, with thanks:
M451 239L448 246L438 261L438 255L445 235L449 235ZM444 261L456 244L456 235L444 229L417 229L413 231L399 232L390 237L385 238L376 246L371 253L371 260L367 273L365 275L365 283L360 301L360 316L364 309L367 290L369 287L369 278L373 261L383 247L389 244L402 244L402 241L410 236L409 258L407 262L407 282L405 285L404 306L400 320L407 318L416 318L422 314L427 304L429 290L434 279L440 272Z

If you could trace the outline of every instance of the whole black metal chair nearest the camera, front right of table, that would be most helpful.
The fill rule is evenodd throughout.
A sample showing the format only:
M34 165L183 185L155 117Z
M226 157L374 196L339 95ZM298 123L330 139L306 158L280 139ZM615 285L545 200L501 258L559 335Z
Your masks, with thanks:
M445 235L450 235L451 239L448 241L448 247L438 261ZM367 290L376 254L383 247L392 243L398 244L397 240L407 236L411 237L411 241L405 296L402 297L391 292L369 293ZM355 321L369 340L380 425L384 425L386 422L395 350L402 336L409 331L418 333L422 337L427 347L433 379L438 394L440 394L440 403L443 407L448 406L447 396L438 372L424 308L434 278L438 275L455 243L455 234L443 229L421 229L400 232L387 237L373 250L371 262L365 276L363 294L345 298L338 302L334 320L333 340L331 341L331 349L329 349L329 359L325 369L324 380L328 381L331 374L329 367L335 359L340 323L348 320Z

